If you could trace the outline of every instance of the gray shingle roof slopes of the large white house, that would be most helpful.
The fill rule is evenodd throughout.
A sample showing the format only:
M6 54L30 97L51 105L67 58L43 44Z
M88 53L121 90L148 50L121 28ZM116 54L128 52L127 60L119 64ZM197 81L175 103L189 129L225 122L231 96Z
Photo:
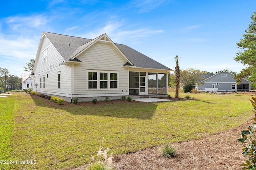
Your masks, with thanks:
M49 32L43 33L51 41L51 43L54 45L54 47L57 49L60 55L62 55L65 61L70 60L72 57L77 55L80 51L82 51L98 39L98 37L92 40ZM153 59L147 57L146 55L132 49L131 47L128 47L127 45L115 45L136 67L172 70L164 66L163 64L160 64L157 61L154 61Z

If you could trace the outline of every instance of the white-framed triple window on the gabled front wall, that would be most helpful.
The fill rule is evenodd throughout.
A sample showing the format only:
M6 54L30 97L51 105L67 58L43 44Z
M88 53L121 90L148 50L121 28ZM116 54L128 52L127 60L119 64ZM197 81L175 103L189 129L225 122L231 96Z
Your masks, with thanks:
M87 89L118 89L117 71L88 70L87 77Z

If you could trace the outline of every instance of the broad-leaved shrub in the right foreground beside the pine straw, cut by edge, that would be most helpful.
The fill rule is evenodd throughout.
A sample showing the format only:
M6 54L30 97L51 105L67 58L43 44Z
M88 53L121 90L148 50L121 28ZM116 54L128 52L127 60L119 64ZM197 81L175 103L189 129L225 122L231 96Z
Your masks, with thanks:
M250 99L249 99L250 100ZM254 126L256 125L256 98L252 98L250 100L252 102L252 106L254 107ZM256 136L255 136L255 127L249 126L248 129L242 131L242 138L238 139L243 145L244 149L242 149L244 152L243 155L249 156L249 160L246 160L246 164L242 164L241 166L244 166L242 169L250 169L255 170L256 169Z

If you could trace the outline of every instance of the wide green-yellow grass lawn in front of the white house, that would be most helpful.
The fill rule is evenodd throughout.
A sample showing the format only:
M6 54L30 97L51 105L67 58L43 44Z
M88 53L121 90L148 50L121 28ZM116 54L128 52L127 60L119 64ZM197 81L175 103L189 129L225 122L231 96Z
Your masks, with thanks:
M180 93L187 95L196 100L70 107L50 106L22 93L0 98L0 160L18 161L0 168L78 167L90 162L100 146L115 155L135 152L206 137L252 118L252 94Z

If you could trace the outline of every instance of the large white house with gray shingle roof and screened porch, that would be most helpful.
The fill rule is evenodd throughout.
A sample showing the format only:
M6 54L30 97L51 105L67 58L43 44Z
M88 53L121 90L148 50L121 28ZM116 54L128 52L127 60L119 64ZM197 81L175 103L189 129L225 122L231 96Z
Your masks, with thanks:
M168 96L169 71L106 34L85 39L43 32L31 75L34 91L83 102Z

